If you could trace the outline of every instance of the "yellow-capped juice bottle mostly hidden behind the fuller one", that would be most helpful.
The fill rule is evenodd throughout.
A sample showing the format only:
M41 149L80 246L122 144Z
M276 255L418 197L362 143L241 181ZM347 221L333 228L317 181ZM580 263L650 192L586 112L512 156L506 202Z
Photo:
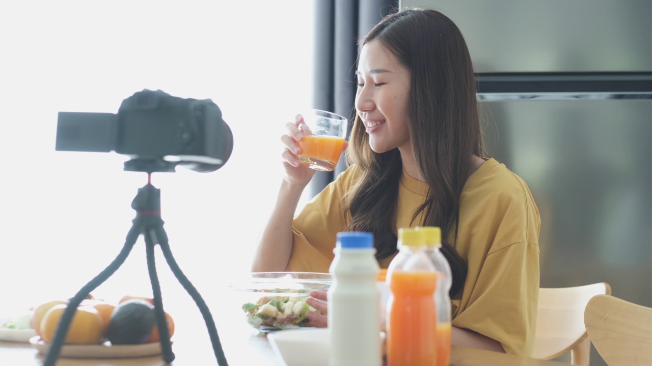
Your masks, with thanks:
M415 227L425 234L426 254L437 271L435 305L437 307L437 366L451 365L451 291L452 272L448 260L441 253L439 227Z

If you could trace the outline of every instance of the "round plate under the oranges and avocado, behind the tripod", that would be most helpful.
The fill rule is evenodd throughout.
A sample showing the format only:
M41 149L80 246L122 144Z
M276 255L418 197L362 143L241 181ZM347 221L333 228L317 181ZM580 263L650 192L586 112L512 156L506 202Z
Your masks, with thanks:
M50 345L44 343L38 336L29 339L29 343L42 354L46 354L50 348ZM134 358L158 354L161 354L160 343L111 345L106 342L102 345L63 345L59 356L64 358Z

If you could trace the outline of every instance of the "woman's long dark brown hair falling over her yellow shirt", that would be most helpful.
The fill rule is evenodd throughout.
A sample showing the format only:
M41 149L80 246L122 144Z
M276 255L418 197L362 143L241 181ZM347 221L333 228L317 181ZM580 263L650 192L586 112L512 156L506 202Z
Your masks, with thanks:
M458 27L436 10L407 9L383 18L360 42L378 40L410 72L408 129L415 161L428 184L421 226L441 227L454 242L442 251L451 264L451 296L464 285L466 262L454 249L460 196L473 169L473 155L486 156L477 110L471 57ZM369 146L359 115L346 150L362 176L346 196L348 229L374 233L376 258L396 251L396 203L402 162L397 148L378 154Z

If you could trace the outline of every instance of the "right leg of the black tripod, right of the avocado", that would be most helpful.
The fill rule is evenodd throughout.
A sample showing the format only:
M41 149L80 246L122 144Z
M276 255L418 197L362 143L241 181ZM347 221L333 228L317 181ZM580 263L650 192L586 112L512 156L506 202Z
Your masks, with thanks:
M201 316L206 323L206 328L208 330L209 337L211 338L213 352L215 352L215 358L217 359L218 365L228 366L228 363L226 363L226 357L224 357L224 351L222 350L222 344L220 343L220 337L218 336L217 330L215 328L215 321L213 321L213 315L211 315L211 311L204 302L203 298L201 298L200 293L192 285L192 283L190 283L188 277L186 277L186 275L181 272L181 268L179 268L179 265L177 265L177 261L174 259L174 257L172 257L170 244L168 243L168 234L166 234L163 227L160 226L155 227L155 230L156 238L158 239L158 245L161 247L161 251L163 252L164 257L168 262L168 266L170 266L172 273L175 275L175 277L177 277L179 283L181 283L183 288L186 289L188 294L190 294L190 297L192 297L192 300L194 300L197 307L200 309Z

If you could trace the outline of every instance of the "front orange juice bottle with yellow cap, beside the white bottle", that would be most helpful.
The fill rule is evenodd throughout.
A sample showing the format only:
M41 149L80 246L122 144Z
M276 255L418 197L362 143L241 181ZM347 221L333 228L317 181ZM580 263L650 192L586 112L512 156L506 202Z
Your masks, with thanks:
M423 231L398 229L399 252L387 268L389 366L436 366L437 272L424 238Z

